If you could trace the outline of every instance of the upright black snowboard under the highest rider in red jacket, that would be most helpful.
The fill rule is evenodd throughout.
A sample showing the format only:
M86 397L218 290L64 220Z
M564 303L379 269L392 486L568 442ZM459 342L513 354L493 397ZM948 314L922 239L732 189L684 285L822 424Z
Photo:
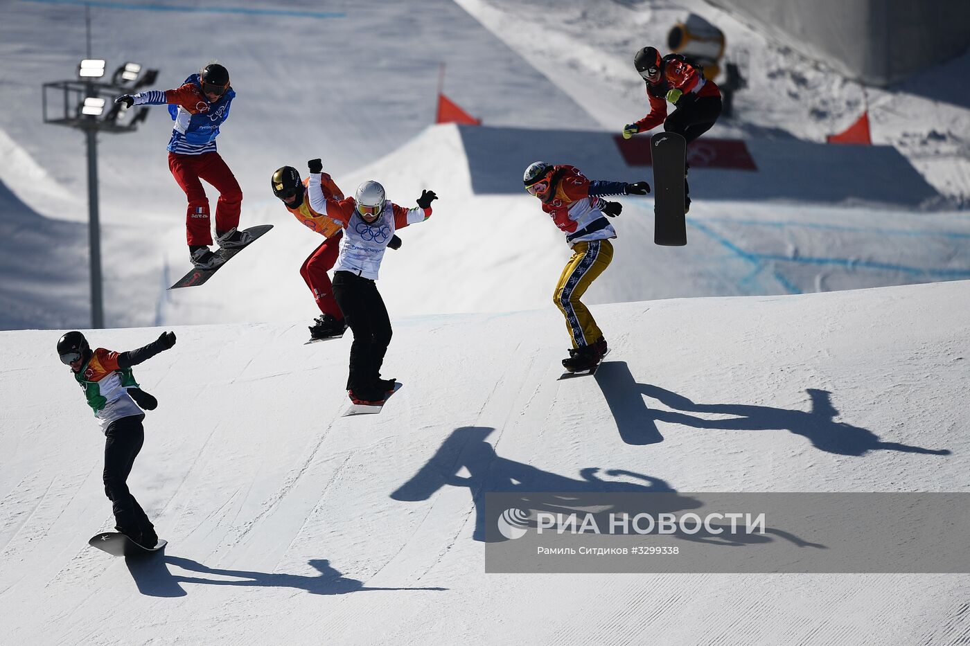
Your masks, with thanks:
M684 219L684 162L687 142L675 132L650 138L654 166L654 243L664 246L687 244Z

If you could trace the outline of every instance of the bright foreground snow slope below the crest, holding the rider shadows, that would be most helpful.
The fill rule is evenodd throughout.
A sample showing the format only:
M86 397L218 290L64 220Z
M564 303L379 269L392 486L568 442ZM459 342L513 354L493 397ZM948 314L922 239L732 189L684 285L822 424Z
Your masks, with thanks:
M596 307L613 352L565 381L552 307L394 316L384 373L404 388L354 418L349 337L178 328L137 369L161 404L130 479L170 546L127 563L84 542L112 525L103 440L57 334L0 333L0 623L43 644L961 643L966 575L485 575L476 510L490 490L616 482L966 492L968 297Z

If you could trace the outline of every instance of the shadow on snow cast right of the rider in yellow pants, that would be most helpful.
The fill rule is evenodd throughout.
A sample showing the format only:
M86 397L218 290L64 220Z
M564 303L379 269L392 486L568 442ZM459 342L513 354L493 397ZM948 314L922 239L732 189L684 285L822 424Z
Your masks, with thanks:
M609 404L621 438L628 444L662 441L655 422L669 422L695 429L735 431L788 431L803 436L812 446L835 455L862 456L869 451L887 450L927 455L950 455L948 449L928 449L900 442L884 442L868 429L836 422L839 411L832 404L831 393L807 388L811 400L808 411L775 408L755 404L695 404L660 386L636 383L625 362L603 363L596 374ZM672 411L650 408L646 395ZM733 415L731 419L705 419L686 413Z

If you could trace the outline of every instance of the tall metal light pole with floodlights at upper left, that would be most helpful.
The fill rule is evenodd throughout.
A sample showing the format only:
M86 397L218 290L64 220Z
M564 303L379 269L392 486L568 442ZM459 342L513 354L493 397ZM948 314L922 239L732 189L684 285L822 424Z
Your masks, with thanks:
M101 230L98 212L98 133L134 132L139 121L144 121L148 108L142 107L133 117L123 105L113 104L121 94L131 94L139 87L149 85L158 77L158 70L146 70L137 63L125 63L113 74L111 81L95 81L105 73L105 61L91 59L90 16L87 17L87 58L81 61L79 76L84 81L55 81L44 83L44 122L66 125L84 131L87 148L87 237L90 247L91 277L91 327L103 328L105 324L101 276ZM141 79L139 75L141 74ZM48 103L48 90L60 90L63 103ZM57 111L57 104L62 111ZM49 108L53 114L49 114ZM106 110L107 108L107 110Z

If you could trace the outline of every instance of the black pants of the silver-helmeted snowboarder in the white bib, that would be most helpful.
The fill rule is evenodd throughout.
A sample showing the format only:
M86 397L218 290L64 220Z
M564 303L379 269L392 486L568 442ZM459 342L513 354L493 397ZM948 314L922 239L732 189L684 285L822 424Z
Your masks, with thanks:
M384 389L377 380L392 333L391 319L377 284L370 278L350 272L336 272L334 298L347 327L354 333L347 390L364 400L383 399Z

